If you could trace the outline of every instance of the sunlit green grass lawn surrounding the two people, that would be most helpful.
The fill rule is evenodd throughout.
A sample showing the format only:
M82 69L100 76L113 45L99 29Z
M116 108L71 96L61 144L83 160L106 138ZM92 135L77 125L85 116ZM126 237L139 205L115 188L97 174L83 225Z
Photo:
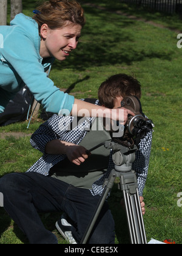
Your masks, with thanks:
M144 12L121 4L119 0L114 6L112 2L102 0L81 2L87 24L78 48L65 62L55 62L50 78L59 88L68 88L76 98L96 98L101 82L113 74L126 73L140 80L143 111L155 123L149 175L144 189L147 241L167 238L181 244L182 207L179 207L178 193L182 192L182 52L177 48L177 32L174 30L180 30L182 22L177 16ZM90 2L102 8L96 8ZM23 12L32 15L36 1L23 3ZM116 13L118 10L136 18ZM24 132L29 135L41 123L41 119L33 121L29 130L26 122L0 127L0 133ZM31 148L29 140L30 137L0 140L0 176L24 172L41 156ZM110 207L116 222L116 243L129 243L120 196L120 191L113 188ZM47 229L56 233L59 243L66 243L55 229L59 216L56 213L41 218ZM4 208L0 208L0 243L27 243Z

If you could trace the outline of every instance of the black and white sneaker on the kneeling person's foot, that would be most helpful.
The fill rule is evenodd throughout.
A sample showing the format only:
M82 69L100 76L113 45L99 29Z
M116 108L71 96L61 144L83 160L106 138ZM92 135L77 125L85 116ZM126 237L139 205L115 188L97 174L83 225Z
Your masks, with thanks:
M70 227L72 227L72 225L69 222L67 222L66 218L67 215L63 213L61 219L59 219L59 221L56 222L56 229L58 229L59 233L61 233L64 239L68 241L70 244L77 244L72 236L72 232L70 231Z

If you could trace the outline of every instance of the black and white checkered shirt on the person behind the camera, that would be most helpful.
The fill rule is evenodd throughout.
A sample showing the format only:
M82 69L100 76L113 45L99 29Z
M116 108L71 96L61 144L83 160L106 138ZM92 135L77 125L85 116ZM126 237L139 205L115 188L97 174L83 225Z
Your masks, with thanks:
M99 102L95 102L99 105ZM33 133L30 143L33 148L38 149L44 155L27 171L38 172L45 176L49 175L50 168L66 158L66 155L49 155L45 154L45 145L52 140L67 141L79 144L90 130L90 125L95 118L82 118L78 123L77 118L72 116L53 115L48 121L42 124L35 133ZM74 125L75 123L75 125ZM103 141L104 142L104 141ZM136 171L138 179L138 191L140 196L143 195L144 186L147 179L149 168L150 150L152 145L152 132L147 133L139 144L139 150L136 151L136 159L132 169ZM114 168L112 152L110 152L109 166L107 172L92 185L91 193L93 196L103 193L104 180L109 177L110 171Z

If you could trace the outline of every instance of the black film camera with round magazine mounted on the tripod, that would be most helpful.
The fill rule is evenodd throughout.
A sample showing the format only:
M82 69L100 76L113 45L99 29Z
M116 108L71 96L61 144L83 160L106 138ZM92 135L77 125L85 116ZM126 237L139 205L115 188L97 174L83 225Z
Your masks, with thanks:
M141 107L140 99L136 96L127 96L121 101L121 107L132 111L135 116L128 115L127 123L124 126L123 136L113 138L113 141L123 144L123 146L133 148L140 143L141 139L146 137L147 132L153 132L154 124L148 119Z

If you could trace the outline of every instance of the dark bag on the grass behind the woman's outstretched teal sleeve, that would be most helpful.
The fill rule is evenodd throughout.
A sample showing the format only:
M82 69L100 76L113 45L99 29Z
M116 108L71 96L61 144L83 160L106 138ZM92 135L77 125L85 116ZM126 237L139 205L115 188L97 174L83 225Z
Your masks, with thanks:
M0 114L0 126L25 121L32 101L32 93L30 93L29 88L25 85L25 87L16 93L15 98L8 102L4 113Z

